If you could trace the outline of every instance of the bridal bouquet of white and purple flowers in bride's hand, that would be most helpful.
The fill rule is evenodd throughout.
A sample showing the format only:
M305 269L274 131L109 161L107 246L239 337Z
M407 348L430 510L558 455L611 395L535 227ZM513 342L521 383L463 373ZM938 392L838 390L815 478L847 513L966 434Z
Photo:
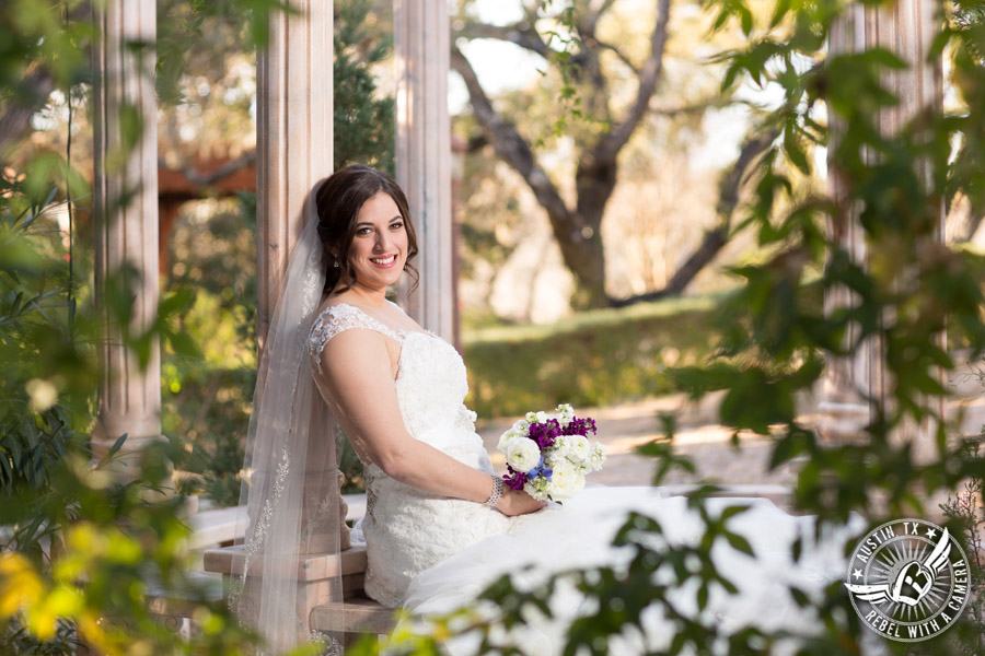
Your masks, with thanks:
M584 488L584 475L602 469L605 447L588 438L595 420L578 419L568 403L554 412L528 412L499 438L509 473L503 482L538 501L561 502Z

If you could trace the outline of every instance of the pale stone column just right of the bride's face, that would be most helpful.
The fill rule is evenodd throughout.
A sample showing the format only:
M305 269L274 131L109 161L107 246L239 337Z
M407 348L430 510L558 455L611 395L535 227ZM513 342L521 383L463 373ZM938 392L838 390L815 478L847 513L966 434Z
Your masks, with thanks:
M394 0L396 179L410 203L420 286L401 304L419 324L454 340L449 24L444 2Z

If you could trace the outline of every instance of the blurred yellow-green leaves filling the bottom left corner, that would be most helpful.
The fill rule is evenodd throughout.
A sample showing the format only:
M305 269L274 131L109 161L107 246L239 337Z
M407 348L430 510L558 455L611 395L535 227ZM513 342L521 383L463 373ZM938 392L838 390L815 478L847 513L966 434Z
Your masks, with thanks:
M82 641L107 656L253 653L256 636L223 602L196 602L212 595L187 575L181 500L157 491L167 460L151 447L139 482L120 484L109 461L93 469L66 457L53 465L49 490L23 490L0 507L0 524L14 527L0 555L0 651L68 655ZM148 596L166 590L195 608L202 631L189 641L149 611Z

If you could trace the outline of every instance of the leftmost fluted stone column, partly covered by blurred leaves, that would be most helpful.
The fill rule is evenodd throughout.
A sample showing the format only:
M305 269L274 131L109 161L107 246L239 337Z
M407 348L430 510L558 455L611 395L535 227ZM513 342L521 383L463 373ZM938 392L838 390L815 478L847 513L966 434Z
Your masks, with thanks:
M119 280L134 298L129 331L143 332L158 309L158 117L154 96L154 0L94 3L93 209L95 293L108 330L101 348L100 415L92 445L104 455L124 433L121 462L161 436L161 352L141 367L109 323L106 284ZM136 125L135 120L136 119ZM130 130L136 131L131 133ZM129 465L126 477L134 472Z

